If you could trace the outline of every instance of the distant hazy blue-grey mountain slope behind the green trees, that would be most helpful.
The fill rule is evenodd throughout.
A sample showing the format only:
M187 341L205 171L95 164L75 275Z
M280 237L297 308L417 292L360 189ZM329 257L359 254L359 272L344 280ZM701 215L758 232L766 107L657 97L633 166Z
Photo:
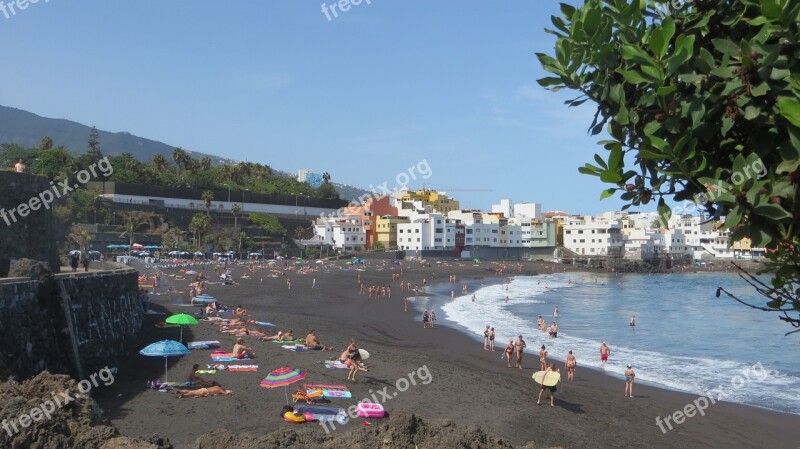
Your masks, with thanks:
M72 153L86 151L91 127L64 119L41 117L21 109L0 106L0 143L15 143L26 148L39 146L42 137L49 136L55 145L63 145ZM163 142L134 136L127 132L112 133L98 130L103 154L130 153L140 161L148 161L156 154L172 159L175 147ZM187 150L188 151L188 150ZM194 158L209 156L214 162L228 159L188 151Z

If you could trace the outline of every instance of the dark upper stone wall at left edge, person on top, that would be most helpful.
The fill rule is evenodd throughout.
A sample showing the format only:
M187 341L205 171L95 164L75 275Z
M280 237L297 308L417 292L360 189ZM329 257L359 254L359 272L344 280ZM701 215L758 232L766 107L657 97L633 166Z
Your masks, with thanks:
M58 272L52 208L37 204L38 210L23 210L24 217L19 216L18 210L20 204L28 204L51 187L41 176L0 171L0 258L43 260ZM2 266L5 264L0 264L0 270ZM5 275L0 271L0 277Z

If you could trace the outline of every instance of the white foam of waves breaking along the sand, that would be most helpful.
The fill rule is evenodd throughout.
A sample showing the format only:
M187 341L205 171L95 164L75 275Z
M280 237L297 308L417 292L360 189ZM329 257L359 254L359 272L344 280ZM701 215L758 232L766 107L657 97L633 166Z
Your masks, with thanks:
M768 363L760 364L758 360L736 361L731 360L728 354L720 354L717 358L711 348L706 357L682 356L680 347L670 341L671 336L663 337L663 345L657 346L671 350L637 349L636 344L621 336L619 341L607 341L611 355L608 364L602 366L599 356L602 341L587 338L586 334L601 337L613 333L605 329L609 323L599 318L592 320L591 314L584 314L583 320L574 326L560 323L558 338L549 339L536 328L536 318L543 315L548 323L551 322L555 304L567 301L571 287L576 285L576 278L585 284L597 282L574 273L516 277L508 290L502 284L485 286L474 292L476 302L472 302L472 293L469 293L449 301L442 310L449 322L463 328L478 341L481 341L486 325L495 327L500 351L510 339L523 335L527 342L526 353L538 354L544 344L548 359L556 361L562 368L567 352L572 350L579 370L581 367L601 369L622 379L626 364L631 363L637 382L698 395L707 395L709 390L716 389L710 394L721 396L724 401L800 414L800 378L778 372ZM619 305L622 309L624 306ZM667 310L671 306L664 307ZM563 306L560 315L562 322L569 322L564 318ZM578 337L575 333L583 336ZM617 335L622 334L618 332ZM649 335L646 338L659 337ZM525 362L524 365L535 365L538 357L528 357Z

